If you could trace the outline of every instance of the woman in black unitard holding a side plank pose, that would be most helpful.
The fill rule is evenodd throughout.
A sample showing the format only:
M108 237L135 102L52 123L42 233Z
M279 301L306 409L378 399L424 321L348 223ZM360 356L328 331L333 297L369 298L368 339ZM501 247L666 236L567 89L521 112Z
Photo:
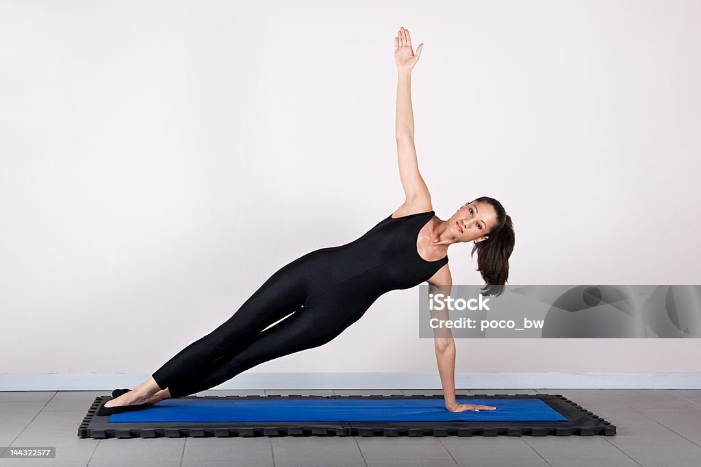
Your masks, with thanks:
M114 391L98 415L138 410L205 391L260 363L326 344L390 290L423 281L451 285L447 250L454 243L475 243L472 255L478 253L478 271L487 290L506 283L514 230L501 203L477 198L442 221L433 212L418 172L411 69L422 47L414 55L409 31L404 27L398 31L396 137L404 203L357 240L315 250L283 266L226 323L177 353L132 391ZM436 339L436 353L448 410L494 410L456 402L452 337Z

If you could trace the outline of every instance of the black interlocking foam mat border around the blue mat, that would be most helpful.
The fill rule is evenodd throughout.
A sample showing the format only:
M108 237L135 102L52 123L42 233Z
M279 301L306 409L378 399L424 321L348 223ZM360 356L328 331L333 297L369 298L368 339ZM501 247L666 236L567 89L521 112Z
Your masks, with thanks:
M204 395L182 399L443 399L442 395ZM459 399L540 399L567 421L402 422L125 422L95 415L110 395L95 398L78 428L80 438L230 438L251 436L613 436L616 427L576 402L556 394L456 394Z

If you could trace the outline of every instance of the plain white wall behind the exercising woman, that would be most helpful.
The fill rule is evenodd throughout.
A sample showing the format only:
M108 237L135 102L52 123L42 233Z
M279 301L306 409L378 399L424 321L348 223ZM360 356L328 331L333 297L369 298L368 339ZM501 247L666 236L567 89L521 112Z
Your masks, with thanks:
M434 208L501 200L510 283L701 283L699 1L344 3L0 3L0 372L153 372L393 212L400 26ZM435 372L417 294L250 371ZM456 371L699 372L700 350L460 339Z

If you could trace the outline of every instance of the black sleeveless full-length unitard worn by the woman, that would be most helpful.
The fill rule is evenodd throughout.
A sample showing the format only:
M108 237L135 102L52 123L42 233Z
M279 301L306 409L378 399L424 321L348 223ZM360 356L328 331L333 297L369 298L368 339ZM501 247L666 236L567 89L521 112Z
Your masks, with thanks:
M156 370L156 384L169 388L173 398L184 397L268 360L326 344L380 295L414 287L448 262L447 256L427 261L416 250L418 232L433 217L433 211L389 216L351 243L283 266L226 323Z

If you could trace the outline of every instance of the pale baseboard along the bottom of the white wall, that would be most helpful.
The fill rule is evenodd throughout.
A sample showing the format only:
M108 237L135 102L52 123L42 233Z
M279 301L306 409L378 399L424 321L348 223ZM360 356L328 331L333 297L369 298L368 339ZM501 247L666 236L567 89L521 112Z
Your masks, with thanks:
M0 391L103 391L149 373L1 373ZM701 389L698 372L456 373L458 389ZM440 389L438 373L244 372L213 389Z

